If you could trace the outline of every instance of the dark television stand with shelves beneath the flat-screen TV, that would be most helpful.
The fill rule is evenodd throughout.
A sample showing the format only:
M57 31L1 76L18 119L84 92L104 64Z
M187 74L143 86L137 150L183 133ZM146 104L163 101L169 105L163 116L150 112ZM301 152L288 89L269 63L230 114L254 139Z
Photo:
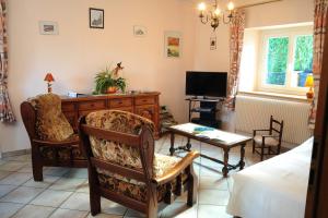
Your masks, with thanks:
M189 101L189 122L211 126L221 128L221 120L216 119L218 105L223 102L224 98L187 98ZM199 102L199 107L196 107ZM198 118L192 118L192 113L199 113Z

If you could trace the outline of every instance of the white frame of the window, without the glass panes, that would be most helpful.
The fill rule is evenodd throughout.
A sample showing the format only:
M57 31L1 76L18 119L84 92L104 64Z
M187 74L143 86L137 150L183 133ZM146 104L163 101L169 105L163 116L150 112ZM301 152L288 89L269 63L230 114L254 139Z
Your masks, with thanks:
M281 93L289 95L305 95L307 87L292 87L292 73L295 56L296 37L313 35L313 25L285 27L279 29L265 29L260 33L260 47L258 57L258 72L257 72L257 90L266 93ZM267 61L268 61L268 43L270 38L289 37L289 55L285 85L270 85L266 84Z

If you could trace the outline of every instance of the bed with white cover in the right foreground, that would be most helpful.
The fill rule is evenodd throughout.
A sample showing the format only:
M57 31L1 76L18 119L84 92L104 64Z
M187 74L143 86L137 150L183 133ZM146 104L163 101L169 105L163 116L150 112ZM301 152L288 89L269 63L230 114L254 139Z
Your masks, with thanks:
M226 207L243 218L303 218L313 138L235 173Z

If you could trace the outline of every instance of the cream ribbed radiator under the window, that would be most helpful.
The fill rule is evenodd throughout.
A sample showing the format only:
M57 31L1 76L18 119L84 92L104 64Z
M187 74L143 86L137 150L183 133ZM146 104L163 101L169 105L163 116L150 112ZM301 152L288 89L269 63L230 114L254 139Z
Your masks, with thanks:
M268 129L272 114L274 119L284 121L283 142L301 144L312 136L307 125L307 102L238 95L235 111L237 132L253 134L254 129Z

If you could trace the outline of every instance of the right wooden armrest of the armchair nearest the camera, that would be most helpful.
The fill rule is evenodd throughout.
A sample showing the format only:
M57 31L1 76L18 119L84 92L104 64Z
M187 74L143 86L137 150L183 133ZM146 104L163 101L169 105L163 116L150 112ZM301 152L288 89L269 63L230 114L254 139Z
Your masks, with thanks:
M153 178L152 182L161 185L165 184L166 182L173 180L175 177L177 177L184 169L186 169L189 165L192 164L192 160L197 157L199 157L199 153L196 150L192 150L186 155L174 168L172 168L168 172L163 174L161 178Z

